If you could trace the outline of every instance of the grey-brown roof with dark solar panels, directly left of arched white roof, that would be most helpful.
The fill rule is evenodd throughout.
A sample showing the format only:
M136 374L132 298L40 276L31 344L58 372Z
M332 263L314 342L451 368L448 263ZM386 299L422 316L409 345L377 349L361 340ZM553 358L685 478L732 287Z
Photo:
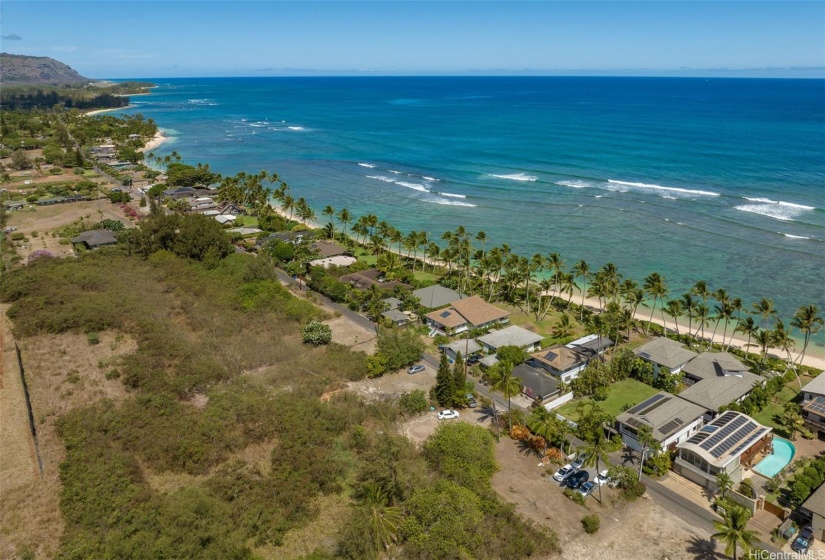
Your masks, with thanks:
M662 391L622 412L616 420L635 430L650 426L653 436L661 442L704 414L701 406Z

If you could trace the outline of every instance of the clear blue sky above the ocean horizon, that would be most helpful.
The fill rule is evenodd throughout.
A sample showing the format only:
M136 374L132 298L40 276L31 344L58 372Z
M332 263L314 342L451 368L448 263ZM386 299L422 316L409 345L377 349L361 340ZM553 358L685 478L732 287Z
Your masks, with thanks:
M825 77L825 2L4 0L2 50L90 78Z

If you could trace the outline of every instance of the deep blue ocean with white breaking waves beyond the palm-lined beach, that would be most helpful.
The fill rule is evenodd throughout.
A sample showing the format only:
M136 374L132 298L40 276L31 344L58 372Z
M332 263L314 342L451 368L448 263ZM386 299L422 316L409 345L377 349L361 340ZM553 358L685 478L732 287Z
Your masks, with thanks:
M153 80L156 150L431 237L825 309L825 80ZM823 354L825 336L817 337ZM801 345L800 345L801 346Z

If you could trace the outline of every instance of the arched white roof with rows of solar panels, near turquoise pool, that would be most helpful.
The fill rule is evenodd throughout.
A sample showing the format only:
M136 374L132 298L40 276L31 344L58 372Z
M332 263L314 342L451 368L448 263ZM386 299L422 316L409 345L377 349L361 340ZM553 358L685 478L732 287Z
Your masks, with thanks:
M693 451L710 465L723 467L770 432L771 428L759 424L750 416L729 410L678 447Z

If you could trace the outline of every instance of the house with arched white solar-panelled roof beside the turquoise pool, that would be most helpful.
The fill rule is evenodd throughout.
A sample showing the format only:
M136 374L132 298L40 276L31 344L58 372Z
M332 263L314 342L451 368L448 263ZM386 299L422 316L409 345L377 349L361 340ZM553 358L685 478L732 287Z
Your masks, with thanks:
M716 477L727 473L734 484L742 480L742 465L770 449L771 428L729 410L678 444L673 470L688 480L715 491Z

